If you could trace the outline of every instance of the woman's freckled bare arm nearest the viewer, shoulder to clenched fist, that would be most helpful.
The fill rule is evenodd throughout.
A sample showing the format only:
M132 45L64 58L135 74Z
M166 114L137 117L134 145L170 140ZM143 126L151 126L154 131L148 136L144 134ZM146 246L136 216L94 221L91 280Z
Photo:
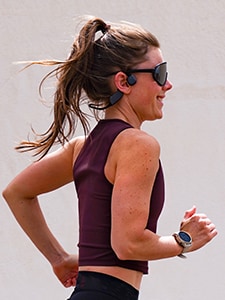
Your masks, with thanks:
M114 169L110 177L114 184L111 242L122 260L156 260L182 252L172 234L159 236L146 229L159 151L153 137L135 130L124 131L112 147L111 168L106 168L106 171ZM193 246L189 251L204 246L217 234L207 216L196 214L195 210L185 214L182 230L192 236Z

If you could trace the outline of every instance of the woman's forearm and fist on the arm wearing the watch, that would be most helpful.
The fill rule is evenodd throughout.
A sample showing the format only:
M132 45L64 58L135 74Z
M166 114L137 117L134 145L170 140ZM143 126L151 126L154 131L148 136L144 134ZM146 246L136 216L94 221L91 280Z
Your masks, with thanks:
M196 214L195 207L185 213L180 229L192 238L188 252L200 249L217 235L215 225L205 214ZM135 230L135 227L117 231L112 236L112 245L117 255L126 260L156 260L183 252L173 235L158 236L148 229Z

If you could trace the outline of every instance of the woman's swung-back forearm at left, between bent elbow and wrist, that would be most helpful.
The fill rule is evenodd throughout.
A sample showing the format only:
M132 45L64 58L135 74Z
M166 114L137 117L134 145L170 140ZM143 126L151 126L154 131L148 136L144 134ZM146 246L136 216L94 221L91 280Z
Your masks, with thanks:
M37 198L26 199L10 192L3 193L3 196L22 229L52 266L67 257L49 230Z

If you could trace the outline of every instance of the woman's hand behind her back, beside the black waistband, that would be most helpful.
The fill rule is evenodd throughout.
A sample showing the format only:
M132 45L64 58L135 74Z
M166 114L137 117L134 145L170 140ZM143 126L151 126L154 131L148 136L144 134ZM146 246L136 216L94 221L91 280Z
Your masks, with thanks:
M55 264L52 268L59 281L66 288L76 285L78 274L77 255L68 255L62 262Z

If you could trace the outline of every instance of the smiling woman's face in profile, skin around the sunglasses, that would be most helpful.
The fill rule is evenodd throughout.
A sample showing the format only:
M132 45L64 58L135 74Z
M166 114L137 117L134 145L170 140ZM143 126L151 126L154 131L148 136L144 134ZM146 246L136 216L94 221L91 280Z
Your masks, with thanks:
M159 48L153 48L147 53L147 60L135 66L135 69L154 69L163 62ZM160 86L151 73L135 73L136 84L130 94L130 105L133 106L138 119L142 123L146 120L156 120L163 117L163 100L166 92L172 88L167 79L164 86Z

